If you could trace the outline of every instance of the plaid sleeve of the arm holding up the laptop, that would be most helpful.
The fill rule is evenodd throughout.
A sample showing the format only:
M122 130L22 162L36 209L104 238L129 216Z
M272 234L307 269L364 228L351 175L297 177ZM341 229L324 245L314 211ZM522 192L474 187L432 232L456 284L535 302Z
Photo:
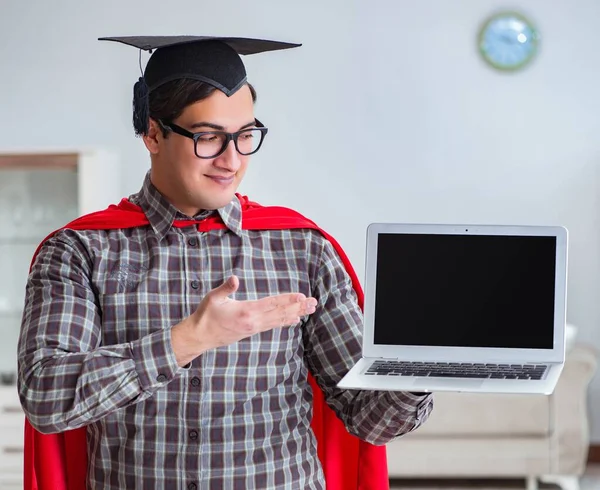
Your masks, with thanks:
M325 239L312 290L318 304L305 325L306 361L348 431L382 445L419 427L433 408L431 394L337 387L360 359L363 316L350 276Z

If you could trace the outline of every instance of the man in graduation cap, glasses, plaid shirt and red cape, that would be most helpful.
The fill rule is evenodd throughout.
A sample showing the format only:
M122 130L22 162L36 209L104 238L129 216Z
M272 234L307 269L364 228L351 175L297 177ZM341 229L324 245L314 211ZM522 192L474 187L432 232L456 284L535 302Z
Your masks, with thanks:
M267 133L239 54L293 45L109 39L156 49L134 89L151 168L32 262L19 340L31 441L85 430L88 488L350 488L327 476L318 392L367 448L414 430L432 401L336 387L360 356L350 264L314 223L235 194ZM367 449L335 450L349 469Z

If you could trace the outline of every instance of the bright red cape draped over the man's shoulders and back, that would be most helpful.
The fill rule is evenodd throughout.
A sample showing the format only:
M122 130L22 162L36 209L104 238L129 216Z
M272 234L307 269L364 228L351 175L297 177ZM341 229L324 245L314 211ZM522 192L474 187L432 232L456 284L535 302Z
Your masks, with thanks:
M363 292L350 261L337 241L314 222L283 207L263 207L238 195L242 203L242 227L247 230L312 228L320 231L335 247L363 307ZM196 224L176 221L175 226ZM104 211L82 216L64 228L109 230L148 225L142 209L126 199ZM199 231L223 229L215 216L202 221ZM54 232L56 233L56 232ZM50 236L54 235L52 233ZM42 242L43 243L43 242ZM41 244L40 244L41 247ZM40 247L36 250L35 255ZM34 255L34 258L35 258ZM374 446L348 433L344 424L325 403L323 392L309 375L314 392L311 427L317 439L319 459L325 473L327 490L383 490L389 488L385 446ZM85 427L60 434L45 435L25 419L25 490L84 490L87 473Z

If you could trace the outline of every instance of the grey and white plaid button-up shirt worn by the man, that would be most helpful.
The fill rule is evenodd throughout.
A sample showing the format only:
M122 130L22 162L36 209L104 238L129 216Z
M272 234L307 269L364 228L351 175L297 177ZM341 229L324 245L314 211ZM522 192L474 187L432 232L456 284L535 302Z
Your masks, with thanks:
M369 442L427 418L428 395L336 388L360 357L362 314L319 232L242 230L237 199L216 211L224 230L176 228L189 218L149 176L130 200L150 226L63 230L46 242L19 340L24 410L41 432L87 426L89 488L324 489L309 371ZM170 327L232 273L235 299L298 291L317 310L178 367Z

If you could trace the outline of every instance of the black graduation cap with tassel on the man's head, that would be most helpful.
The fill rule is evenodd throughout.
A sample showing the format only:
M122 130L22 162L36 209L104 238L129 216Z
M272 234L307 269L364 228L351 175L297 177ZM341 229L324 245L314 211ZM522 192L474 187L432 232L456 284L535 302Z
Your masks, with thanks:
M301 46L265 39L216 36L125 36L101 37L99 40L115 41L152 53L143 76L134 86L133 124L137 134L148 132L148 96L161 85L182 78L198 80L229 97L247 80L240 55Z

